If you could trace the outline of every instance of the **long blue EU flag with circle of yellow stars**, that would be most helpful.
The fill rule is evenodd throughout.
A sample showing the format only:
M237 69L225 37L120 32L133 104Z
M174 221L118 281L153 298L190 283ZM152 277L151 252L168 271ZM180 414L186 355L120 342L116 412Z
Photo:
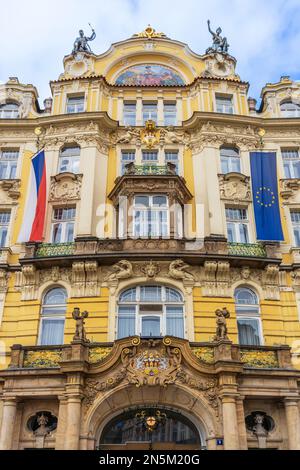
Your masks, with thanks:
M275 152L251 152L251 179L256 235L262 241L283 240Z

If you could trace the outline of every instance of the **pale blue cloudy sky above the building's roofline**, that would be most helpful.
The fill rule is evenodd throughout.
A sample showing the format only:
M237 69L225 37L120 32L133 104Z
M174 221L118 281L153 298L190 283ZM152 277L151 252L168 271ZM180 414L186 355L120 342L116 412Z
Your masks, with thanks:
M78 30L90 34L88 23L96 54L148 23L203 54L212 42L207 19L221 26L250 96L259 99L282 75L300 79L300 0L0 0L0 82L32 83L42 105Z

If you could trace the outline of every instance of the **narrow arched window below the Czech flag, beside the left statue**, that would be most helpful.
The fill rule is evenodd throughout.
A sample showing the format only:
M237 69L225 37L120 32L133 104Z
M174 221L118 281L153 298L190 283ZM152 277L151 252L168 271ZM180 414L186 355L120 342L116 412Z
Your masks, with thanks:
M43 299L39 344L63 344L67 292L63 287L49 290Z

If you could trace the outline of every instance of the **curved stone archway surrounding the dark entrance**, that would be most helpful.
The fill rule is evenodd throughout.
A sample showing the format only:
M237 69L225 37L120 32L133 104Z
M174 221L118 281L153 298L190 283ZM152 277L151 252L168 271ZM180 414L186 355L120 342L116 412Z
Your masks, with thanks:
M216 437L222 434L221 424L207 403L195 391L179 384L168 387L132 385L120 386L97 398L85 413L81 433L81 449L93 450L107 424L129 409L159 407L182 415L199 433L201 446L214 449Z

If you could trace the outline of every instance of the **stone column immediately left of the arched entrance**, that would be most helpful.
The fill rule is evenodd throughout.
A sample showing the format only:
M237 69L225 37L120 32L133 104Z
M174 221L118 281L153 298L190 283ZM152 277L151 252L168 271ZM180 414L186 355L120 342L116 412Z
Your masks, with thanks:
M67 404L67 429L65 434L65 450L79 449L81 417L81 396L71 395Z

